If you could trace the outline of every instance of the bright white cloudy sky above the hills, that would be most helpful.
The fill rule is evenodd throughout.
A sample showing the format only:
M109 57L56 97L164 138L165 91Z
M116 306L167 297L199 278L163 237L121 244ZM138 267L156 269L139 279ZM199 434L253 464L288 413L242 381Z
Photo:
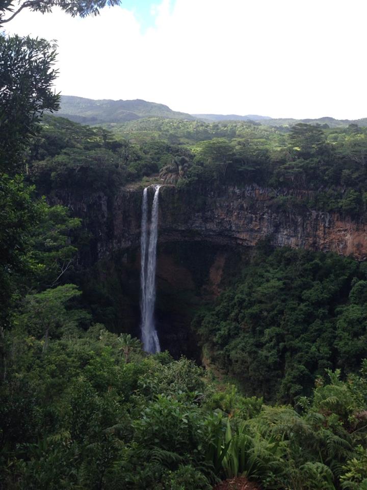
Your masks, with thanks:
M366 0L171 2L150 8L145 30L120 7L85 19L22 11L7 27L58 40L64 95L189 113L367 117Z

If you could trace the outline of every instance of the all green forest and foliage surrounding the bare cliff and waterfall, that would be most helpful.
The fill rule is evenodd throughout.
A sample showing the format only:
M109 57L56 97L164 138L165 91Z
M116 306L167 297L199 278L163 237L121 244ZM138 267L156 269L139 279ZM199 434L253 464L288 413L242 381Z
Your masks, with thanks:
M31 8L83 17L105 4ZM12 9L0 4L0 27ZM59 109L55 59L48 41L0 33L1 490L194 490L238 476L366 490L364 262L265 240L197 305L202 365L148 355L98 323L81 280L90 230L57 198L253 185L280 210L358 220L367 129L163 117L82 126L44 113Z

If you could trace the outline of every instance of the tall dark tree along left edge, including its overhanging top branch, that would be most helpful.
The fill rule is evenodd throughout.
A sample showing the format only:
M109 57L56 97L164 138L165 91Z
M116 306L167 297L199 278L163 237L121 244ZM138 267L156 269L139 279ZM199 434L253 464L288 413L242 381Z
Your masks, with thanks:
M97 15L99 9L119 5L120 0L0 0L0 29L23 9L42 13L60 7L71 16ZM6 174L23 170L23 152L35 132L43 111L59 109L59 95L53 89L56 45L45 39L6 37L0 31L0 372L6 376L4 327L14 284L14 272L22 268L31 242L31 228L38 221L39 207L32 190L21 179ZM63 250L66 250L65 248ZM70 255L68 253L66 255ZM65 256L65 258L67 258ZM67 267L61 264L61 274ZM60 275L60 274L59 274ZM58 276L59 277L59 276ZM58 278L57 278L58 279ZM56 281L57 281L56 279ZM50 293L51 294L51 293ZM48 330L47 330L48 332ZM47 335L46 335L47 338Z

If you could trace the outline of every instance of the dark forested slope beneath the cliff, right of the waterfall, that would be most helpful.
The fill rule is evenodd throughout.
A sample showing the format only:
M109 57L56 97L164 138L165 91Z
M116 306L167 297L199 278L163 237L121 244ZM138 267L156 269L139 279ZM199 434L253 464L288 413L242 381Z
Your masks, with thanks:
M245 393L294 403L325 370L367 357L365 263L265 243L195 328L215 366Z

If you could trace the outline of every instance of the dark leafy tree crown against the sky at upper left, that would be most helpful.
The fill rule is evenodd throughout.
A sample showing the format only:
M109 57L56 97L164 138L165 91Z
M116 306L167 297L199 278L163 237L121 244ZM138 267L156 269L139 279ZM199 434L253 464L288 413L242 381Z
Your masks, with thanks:
M52 88L55 47L45 39L0 35L0 171L21 169L40 115L59 109Z

